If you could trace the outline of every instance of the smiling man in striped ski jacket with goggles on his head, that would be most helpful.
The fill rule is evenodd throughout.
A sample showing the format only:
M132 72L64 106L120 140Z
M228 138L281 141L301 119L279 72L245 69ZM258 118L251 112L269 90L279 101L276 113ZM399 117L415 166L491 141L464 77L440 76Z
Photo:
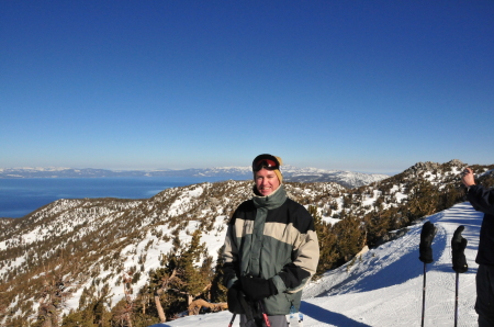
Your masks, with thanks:
M272 327L288 326L285 315L292 307L299 311L302 287L319 259L314 219L287 196L281 165L271 155L254 159L254 196L228 223L224 283L228 309L240 314L242 327L261 326L259 312L268 314Z

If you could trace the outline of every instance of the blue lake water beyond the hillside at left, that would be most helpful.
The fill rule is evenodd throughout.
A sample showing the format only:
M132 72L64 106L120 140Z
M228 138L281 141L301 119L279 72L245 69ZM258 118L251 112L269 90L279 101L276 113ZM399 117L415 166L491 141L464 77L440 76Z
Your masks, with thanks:
M59 199L148 199L169 188L225 178L25 178L0 179L0 217L19 218Z

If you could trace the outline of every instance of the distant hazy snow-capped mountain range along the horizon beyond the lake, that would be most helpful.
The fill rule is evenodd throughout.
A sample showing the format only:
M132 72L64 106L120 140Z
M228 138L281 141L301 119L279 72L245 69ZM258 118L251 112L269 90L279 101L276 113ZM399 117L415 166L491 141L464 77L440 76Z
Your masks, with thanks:
M388 174L362 173L345 170L318 168L297 168L283 166L285 181L292 182L337 182L346 188L367 185L389 178ZM252 176L250 167L215 167L182 170L108 170L93 168L0 168L0 179L4 178L103 178L103 177L218 177L233 180L247 180Z

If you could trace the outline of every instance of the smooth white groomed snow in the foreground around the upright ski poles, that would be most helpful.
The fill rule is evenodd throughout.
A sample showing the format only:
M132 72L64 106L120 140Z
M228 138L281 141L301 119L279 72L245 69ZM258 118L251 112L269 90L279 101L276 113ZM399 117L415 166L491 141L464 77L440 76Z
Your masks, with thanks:
M438 229L433 243L435 261L426 266L425 326L454 323L456 273L451 268L451 237L459 225L469 244L469 271L459 274L458 326L476 326L474 262L482 213L465 202L426 219ZM304 289L301 312L304 327L322 326L419 326L422 318L424 263L418 260L420 230L425 221L409 226L403 237L326 272ZM202 240L207 241L207 238ZM229 312L183 317L154 327L226 326ZM238 319L233 324L238 326Z

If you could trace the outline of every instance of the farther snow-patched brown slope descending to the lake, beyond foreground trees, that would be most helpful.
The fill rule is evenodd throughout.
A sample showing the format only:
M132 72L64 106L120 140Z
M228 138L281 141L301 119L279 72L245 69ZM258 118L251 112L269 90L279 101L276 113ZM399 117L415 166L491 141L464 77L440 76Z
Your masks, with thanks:
M311 203L346 190L337 183L285 187L292 199ZM94 284L94 292L105 285L114 305L124 297L123 273L132 271L134 291L144 287L149 272L161 267L161 256L172 249L175 233L184 250L200 229L201 244L205 243L215 262L225 239L225 223L236 206L251 196L251 181L231 180L171 188L148 200L63 199L23 218L0 219L0 292L10 292L9 297L0 297L0 308L11 308L14 318L30 309L36 312L38 298L25 289L38 289L30 283L40 283L41 274L63 269L72 287L64 314L76 309L83 290ZM64 264L54 263L56 269L48 267L41 274L36 271L45 260L67 253L71 259ZM0 311L0 326L9 318L2 314Z

